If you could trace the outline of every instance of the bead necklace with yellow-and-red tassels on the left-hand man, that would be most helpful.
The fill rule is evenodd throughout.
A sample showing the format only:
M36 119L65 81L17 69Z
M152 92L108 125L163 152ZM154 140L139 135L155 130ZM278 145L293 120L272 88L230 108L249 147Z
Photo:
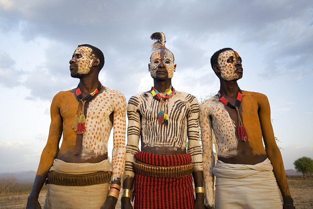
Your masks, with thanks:
M86 123L86 117L84 115L85 103L88 100L90 100L93 95L97 94L100 91L100 89L102 89L102 84L99 81L99 85L95 89L95 91L83 97L83 94L81 93L79 89L79 84L78 84L77 89L76 89L76 96L77 96L77 100L79 101L79 105L77 108L76 115L74 117L74 122L73 122L73 127L72 127L72 129L74 129L76 134L83 134L85 132L85 123Z

